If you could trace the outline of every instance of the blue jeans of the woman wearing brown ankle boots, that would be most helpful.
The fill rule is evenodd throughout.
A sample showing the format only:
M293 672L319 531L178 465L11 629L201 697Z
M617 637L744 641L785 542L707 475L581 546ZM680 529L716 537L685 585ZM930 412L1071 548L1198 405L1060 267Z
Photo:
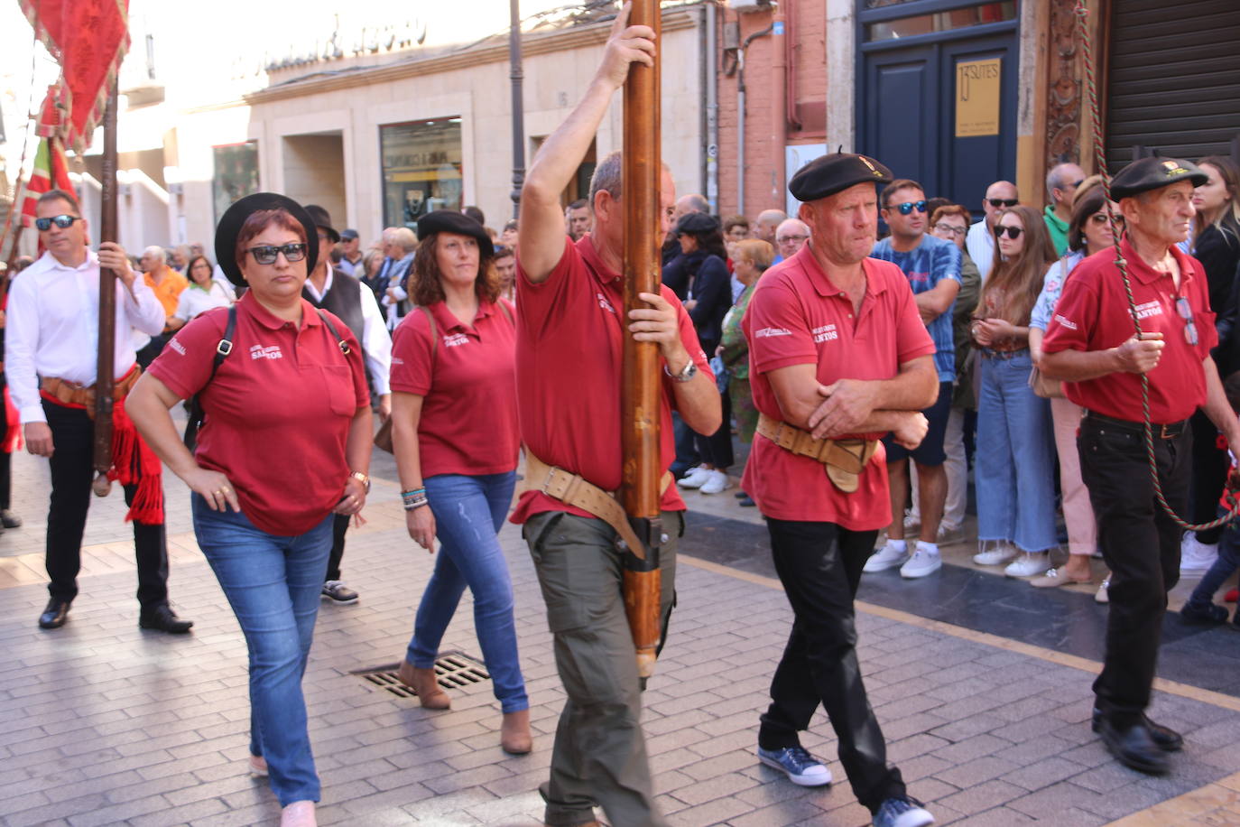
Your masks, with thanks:
M423 481L435 515L439 555L418 605L405 656L418 668L435 665L439 642L467 585L474 593L474 627L482 660L491 673L495 697L506 713L529 708L517 658L512 580L496 537L512 505L516 481L515 471L480 476L436 474Z

